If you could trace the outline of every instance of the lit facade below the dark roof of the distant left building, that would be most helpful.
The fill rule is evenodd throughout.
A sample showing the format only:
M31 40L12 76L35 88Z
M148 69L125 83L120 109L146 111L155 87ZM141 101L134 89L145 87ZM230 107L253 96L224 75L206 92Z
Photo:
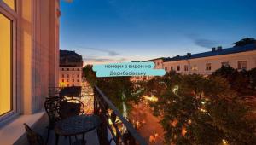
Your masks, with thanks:
M83 67L60 67L59 68L59 86L82 86Z

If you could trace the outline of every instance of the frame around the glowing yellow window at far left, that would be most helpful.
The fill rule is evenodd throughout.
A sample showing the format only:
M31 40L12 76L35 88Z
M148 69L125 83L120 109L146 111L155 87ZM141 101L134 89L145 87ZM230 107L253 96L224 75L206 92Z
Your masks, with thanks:
M11 58L10 58L10 73L11 73L11 78L10 78L10 85L11 85L11 89L10 89L10 99L11 99L11 110L7 113L3 113L0 115L0 126L4 125L5 122L8 122L10 119L15 118L16 116L19 115L20 113L20 98L18 98L18 92L20 92L18 90L20 84L17 79L19 78L19 66L18 65L18 54L19 54L19 50L17 49L18 47L18 43L17 43L17 36L18 31L17 31L17 26L18 24L18 14L17 14L17 9L18 9L18 3L19 1L15 1L15 9L11 9L6 3L4 3L2 0L0 0L0 13L3 14L5 17L7 17L9 20L11 20Z

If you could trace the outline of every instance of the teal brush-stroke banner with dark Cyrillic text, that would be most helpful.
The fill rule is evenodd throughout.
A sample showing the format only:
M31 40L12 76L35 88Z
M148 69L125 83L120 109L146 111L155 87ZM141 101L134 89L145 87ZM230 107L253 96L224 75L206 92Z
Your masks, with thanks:
M154 69L154 62L122 62L93 65L96 77L163 76L164 69Z

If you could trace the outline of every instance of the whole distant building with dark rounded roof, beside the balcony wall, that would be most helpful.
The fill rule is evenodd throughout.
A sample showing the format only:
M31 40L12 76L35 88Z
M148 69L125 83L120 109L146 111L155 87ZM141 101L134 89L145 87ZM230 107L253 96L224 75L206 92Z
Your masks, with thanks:
M75 51L60 50L59 86L81 86L83 58Z

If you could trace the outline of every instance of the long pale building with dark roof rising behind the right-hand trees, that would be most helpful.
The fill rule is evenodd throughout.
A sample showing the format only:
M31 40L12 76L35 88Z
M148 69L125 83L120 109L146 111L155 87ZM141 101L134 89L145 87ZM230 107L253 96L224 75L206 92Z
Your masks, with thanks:
M201 74L207 76L222 66L230 66L237 70L250 70L256 67L256 44L222 49L212 48L199 54L187 53L172 58L160 57L153 60L155 69L165 69L166 72L175 71L182 74ZM148 80L151 76L132 77L132 81Z

